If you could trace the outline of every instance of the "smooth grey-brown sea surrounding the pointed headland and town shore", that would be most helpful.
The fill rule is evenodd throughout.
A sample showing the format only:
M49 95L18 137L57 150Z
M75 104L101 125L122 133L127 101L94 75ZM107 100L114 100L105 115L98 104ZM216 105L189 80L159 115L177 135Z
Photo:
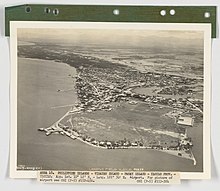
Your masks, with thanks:
M62 135L46 136L38 128L52 125L74 104L76 70L65 63L18 59L18 155L17 164L53 170L110 168L131 170L202 171L202 128L189 130L193 137L192 160L145 149L106 150ZM68 91L60 91L68 90Z

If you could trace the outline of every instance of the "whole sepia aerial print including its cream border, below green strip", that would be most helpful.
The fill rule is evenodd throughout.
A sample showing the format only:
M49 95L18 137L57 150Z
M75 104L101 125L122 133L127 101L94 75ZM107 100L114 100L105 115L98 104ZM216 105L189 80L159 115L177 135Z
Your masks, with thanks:
M11 176L210 176L210 25L12 22Z

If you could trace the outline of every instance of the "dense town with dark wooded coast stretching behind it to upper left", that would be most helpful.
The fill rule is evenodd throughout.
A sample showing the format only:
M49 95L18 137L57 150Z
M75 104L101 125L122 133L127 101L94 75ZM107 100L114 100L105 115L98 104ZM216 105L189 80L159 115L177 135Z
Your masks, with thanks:
M129 101L138 99L150 103L170 105L177 108L203 109L202 100L191 100L188 104L187 99L176 100L174 98L163 98L162 95L190 95L193 94L191 85L198 83L197 79L184 76L165 74L159 72L145 72L132 69L107 61L92 57L70 54L65 48L63 52L58 50L42 49L35 46L35 51L25 46L19 47L19 55L40 59L56 60L68 63L76 67L79 76L76 80L77 93L81 102L78 107L87 109L89 112L103 109L110 111L111 102L120 100ZM59 53L59 54L58 54ZM133 93L136 87L160 87L158 95L149 96Z

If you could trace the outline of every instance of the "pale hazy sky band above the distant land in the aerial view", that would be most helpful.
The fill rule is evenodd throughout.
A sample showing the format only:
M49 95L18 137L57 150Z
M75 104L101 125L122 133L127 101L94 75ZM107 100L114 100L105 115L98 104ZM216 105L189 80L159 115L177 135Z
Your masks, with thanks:
M203 46L203 32L125 29L18 29L18 40L110 47Z

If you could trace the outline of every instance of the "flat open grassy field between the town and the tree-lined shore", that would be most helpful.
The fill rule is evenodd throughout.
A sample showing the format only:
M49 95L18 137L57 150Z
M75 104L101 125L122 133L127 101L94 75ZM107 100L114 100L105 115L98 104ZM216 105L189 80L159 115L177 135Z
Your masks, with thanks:
M158 133L167 131L178 134L174 119L163 116L169 111L169 108L152 108L143 102L137 105L123 102L112 111L85 112L68 116L62 124L70 126L71 119L78 132L99 141L129 140L141 141L145 146L174 146L178 142L177 137Z

